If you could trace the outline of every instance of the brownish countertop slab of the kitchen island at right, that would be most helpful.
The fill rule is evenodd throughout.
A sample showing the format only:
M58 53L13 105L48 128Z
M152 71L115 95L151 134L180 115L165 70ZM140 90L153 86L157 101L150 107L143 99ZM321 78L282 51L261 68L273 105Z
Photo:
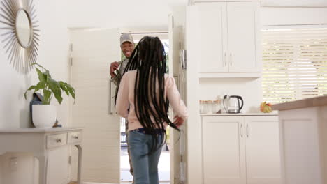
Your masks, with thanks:
M304 100L296 100L293 102L279 103L272 106L273 110L288 110L288 109L301 109L307 107L325 106L327 105L327 95L315 98L307 98Z

